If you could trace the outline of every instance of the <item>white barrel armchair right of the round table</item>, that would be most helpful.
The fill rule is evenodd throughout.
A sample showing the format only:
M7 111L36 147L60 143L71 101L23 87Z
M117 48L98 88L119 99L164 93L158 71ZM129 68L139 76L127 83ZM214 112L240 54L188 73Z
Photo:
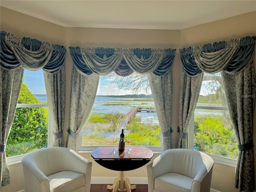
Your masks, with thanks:
M213 164L199 151L166 150L147 166L148 192L209 192Z

